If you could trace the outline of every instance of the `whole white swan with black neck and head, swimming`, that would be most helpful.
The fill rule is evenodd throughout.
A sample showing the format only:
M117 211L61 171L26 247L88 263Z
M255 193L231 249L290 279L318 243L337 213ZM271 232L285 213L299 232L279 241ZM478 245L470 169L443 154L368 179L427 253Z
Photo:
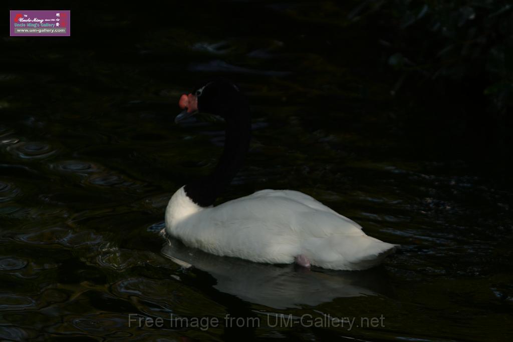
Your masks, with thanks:
M183 112L175 122L198 111L223 117L225 146L208 176L181 187L169 200L169 235L216 255L336 270L367 269L394 251L394 245L366 235L351 219L298 191L261 190L212 206L249 148L249 104L238 86L215 79L182 95L179 105Z

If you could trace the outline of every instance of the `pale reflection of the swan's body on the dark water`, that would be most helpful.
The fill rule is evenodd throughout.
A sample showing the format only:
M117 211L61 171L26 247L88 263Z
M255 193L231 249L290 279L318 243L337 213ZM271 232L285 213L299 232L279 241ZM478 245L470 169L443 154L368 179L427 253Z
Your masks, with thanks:
M366 271L311 270L217 256L169 238L162 253L184 268L196 268L216 280L215 289L275 309L317 306L339 297L386 295L390 287L380 267Z

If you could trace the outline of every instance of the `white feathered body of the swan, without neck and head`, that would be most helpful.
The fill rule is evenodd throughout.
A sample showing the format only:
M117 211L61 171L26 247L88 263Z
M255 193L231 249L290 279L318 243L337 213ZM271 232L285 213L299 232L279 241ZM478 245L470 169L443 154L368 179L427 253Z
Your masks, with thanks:
M204 208L182 187L169 200L166 232L216 255L272 264L289 264L303 255L311 265L336 270L367 269L395 248L292 190L261 190Z

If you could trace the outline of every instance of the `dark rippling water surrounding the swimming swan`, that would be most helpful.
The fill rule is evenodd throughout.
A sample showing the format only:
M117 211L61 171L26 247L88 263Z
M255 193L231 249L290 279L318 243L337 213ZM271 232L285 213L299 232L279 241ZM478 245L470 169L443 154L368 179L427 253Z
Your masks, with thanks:
M130 30L149 9L72 8L71 38L3 38L2 339L510 338L513 193L473 164L432 158L429 134L400 138L408 128L393 122L386 73L368 67L364 28L334 34L329 6L223 6L177 4L142 31ZM253 112L246 167L220 202L303 191L402 249L364 272L302 272L167 242L169 197L215 165L223 142L222 124L173 123L180 94L212 75L239 83ZM170 314L220 324L176 327ZM281 314L295 323L275 327ZM312 326L327 315L356 321Z

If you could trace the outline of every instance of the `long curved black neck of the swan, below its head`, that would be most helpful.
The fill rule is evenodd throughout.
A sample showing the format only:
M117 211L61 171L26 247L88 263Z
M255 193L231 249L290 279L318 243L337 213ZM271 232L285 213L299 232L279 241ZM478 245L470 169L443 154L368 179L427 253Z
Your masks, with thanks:
M225 146L218 165L208 176L185 186L187 196L202 207L211 206L231 183L249 149L251 116L247 104L230 106L223 114L226 120Z

